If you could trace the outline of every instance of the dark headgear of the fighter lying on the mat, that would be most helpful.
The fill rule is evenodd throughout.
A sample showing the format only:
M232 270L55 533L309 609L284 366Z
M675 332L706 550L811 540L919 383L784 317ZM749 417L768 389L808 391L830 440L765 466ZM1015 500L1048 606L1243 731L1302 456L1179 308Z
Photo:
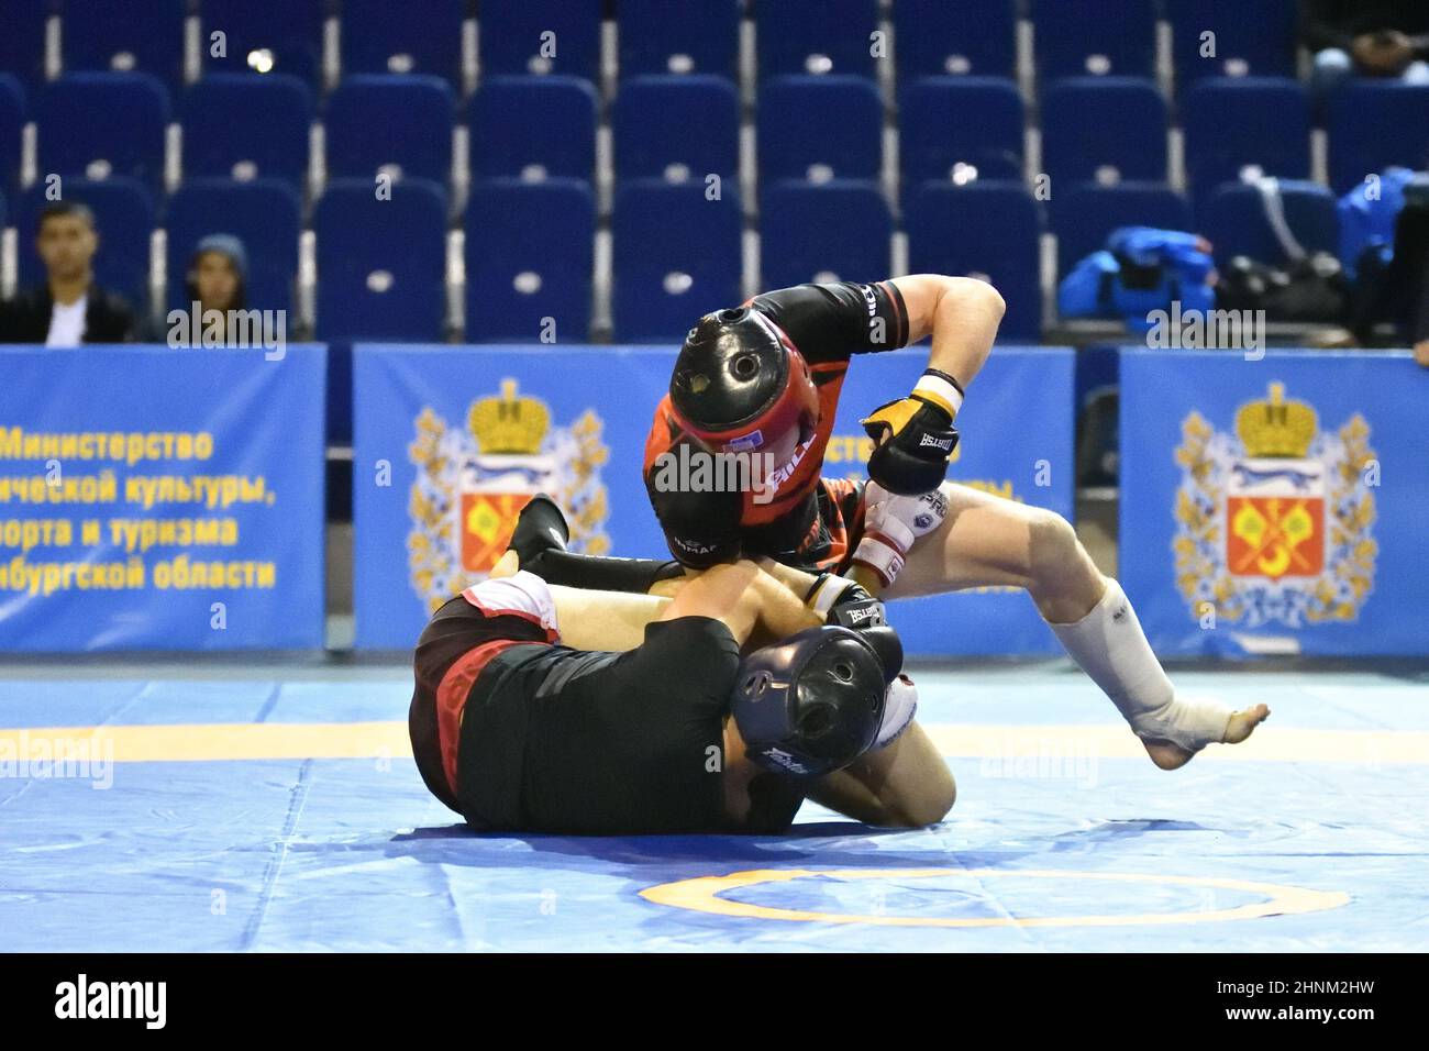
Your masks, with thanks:
M892 628L825 625L756 649L739 665L730 711L750 761L817 778L863 755L903 666Z

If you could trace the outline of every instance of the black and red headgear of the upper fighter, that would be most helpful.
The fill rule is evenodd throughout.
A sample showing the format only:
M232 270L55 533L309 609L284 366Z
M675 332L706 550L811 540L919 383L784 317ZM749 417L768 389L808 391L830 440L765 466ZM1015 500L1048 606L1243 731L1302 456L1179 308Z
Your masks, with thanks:
M819 423L819 390L789 336L753 307L719 310L690 329L670 376L670 408L689 433L752 452Z

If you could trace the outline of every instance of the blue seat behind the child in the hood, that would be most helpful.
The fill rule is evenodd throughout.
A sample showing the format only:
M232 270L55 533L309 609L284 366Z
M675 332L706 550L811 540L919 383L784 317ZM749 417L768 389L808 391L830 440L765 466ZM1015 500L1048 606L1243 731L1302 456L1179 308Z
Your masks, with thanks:
M170 309L187 306L184 282L194 246L210 233L231 233L249 255L249 307L292 310L300 217L297 192L280 179L186 182L164 213Z

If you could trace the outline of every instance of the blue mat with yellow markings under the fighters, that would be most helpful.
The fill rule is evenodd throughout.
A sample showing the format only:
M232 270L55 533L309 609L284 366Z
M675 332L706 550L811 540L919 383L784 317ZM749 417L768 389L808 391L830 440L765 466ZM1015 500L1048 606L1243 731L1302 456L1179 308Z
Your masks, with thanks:
M406 669L0 684L0 948L1365 951L1429 942L1429 675L1195 672L1270 721L1152 766L1053 662L915 671L959 786L880 832L483 837ZM80 678L83 676L83 678Z

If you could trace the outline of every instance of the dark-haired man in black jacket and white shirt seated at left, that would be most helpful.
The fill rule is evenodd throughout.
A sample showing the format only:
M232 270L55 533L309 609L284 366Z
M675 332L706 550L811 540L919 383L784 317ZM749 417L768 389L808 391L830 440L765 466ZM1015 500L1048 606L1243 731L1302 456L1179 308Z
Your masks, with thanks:
M129 303L94 283L99 233L93 212L69 202L50 204L40 213L34 246L49 277L0 306L0 342L69 349L134 339L137 322Z

